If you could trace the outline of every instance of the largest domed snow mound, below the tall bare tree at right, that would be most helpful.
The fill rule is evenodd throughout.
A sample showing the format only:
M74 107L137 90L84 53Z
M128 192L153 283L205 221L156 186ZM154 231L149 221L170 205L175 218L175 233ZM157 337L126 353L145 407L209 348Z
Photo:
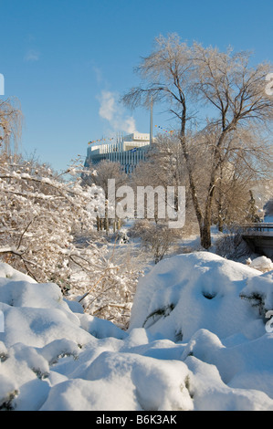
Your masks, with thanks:
M187 341L199 329L220 338L237 332L256 335L257 311L240 292L247 280L260 275L209 252L165 259L139 282L131 328L143 327L173 341Z

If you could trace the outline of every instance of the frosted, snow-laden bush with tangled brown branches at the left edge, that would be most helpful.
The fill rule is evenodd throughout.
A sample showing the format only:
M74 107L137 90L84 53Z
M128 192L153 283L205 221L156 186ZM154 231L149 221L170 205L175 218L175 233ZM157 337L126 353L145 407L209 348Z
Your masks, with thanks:
M70 173L64 181L47 166L1 156L0 258L38 282L57 283L87 311L127 323L136 270L115 264L96 235L102 190Z

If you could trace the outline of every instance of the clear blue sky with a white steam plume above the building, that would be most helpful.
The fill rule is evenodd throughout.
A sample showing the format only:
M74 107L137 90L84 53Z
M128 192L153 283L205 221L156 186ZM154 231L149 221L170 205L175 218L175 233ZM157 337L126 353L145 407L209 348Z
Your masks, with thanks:
M0 73L25 116L21 152L62 170L90 140L149 132L149 112L117 99L138 83L133 68L154 37L272 62L272 16L272 0L0 0ZM165 126L161 110L153 124Z

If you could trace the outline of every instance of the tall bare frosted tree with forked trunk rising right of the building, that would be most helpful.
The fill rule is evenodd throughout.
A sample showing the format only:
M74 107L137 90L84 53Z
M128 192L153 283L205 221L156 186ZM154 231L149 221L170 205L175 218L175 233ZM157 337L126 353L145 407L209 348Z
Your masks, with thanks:
M273 99L265 92L269 65L253 68L249 59L248 53L233 53L230 48L222 53L197 43L189 47L177 35L158 37L152 54L137 68L142 84L123 97L131 107L148 106L151 97L154 102L164 102L178 120L178 137L205 248L211 246L212 207L221 165L230 160L231 154L244 157L247 152L244 146L235 146L240 131L250 124L265 126L273 118ZM199 116L197 108L202 108ZM195 135L193 120L199 126ZM203 162L207 164L208 182L200 200L192 146L204 134L207 158Z

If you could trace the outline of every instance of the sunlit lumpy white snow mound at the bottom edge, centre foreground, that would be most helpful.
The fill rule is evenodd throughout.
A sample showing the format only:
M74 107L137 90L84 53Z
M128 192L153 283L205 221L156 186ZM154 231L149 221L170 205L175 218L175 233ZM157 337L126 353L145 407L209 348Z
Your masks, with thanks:
M187 374L181 361L105 351L89 365L84 379L53 387L41 410L192 410L184 385Z

